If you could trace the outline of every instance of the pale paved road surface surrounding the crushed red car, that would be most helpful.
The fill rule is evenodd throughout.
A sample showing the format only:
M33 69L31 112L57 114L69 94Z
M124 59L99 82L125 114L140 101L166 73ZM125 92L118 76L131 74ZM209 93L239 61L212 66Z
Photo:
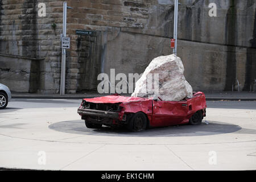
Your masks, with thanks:
M76 113L80 101L14 99L0 110L0 167L256 169L255 101L208 101L207 117L199 126L141 133L87 129Z

